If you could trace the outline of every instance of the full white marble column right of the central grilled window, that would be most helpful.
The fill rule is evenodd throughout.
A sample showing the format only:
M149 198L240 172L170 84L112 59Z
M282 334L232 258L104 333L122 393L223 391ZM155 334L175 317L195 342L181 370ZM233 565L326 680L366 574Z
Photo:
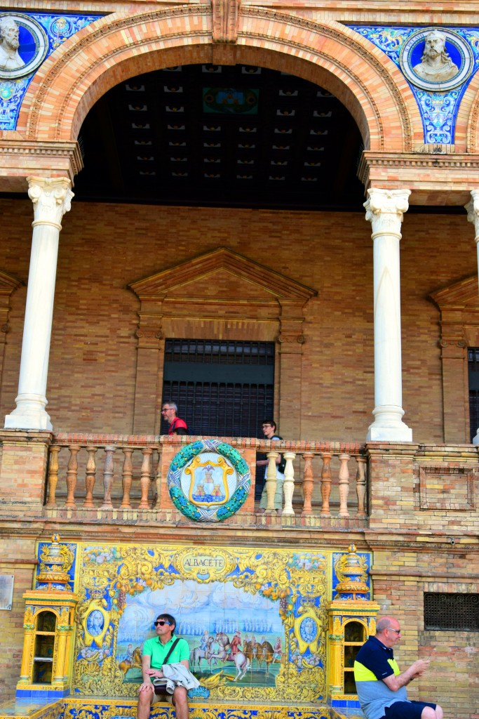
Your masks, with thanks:
M409 190L368 190L366 220L373 227L374 421L367 441L412 441L402 421L401 286L399 240Z

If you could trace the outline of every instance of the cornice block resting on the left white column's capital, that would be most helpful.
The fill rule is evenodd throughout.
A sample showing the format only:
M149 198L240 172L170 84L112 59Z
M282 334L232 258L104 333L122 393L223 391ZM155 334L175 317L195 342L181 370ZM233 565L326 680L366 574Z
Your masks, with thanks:
M27 191L28 175L73 178L83 168L78 142L0 138L0 192Z

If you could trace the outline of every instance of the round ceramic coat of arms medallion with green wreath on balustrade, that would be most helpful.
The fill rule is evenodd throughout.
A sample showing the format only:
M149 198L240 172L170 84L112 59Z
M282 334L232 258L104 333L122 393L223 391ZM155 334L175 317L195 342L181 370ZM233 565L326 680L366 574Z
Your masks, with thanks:
M219 439L204 439L181 449L169 465L167 481L175 507L197 522L231 517L251 488L243 457Z

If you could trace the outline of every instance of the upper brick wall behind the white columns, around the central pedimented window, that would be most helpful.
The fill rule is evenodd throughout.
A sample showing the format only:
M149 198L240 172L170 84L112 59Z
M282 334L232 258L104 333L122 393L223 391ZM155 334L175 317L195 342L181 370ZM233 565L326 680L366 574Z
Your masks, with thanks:
M0 269L27 282L30 203L1 200L0 208L10 237ZM465 215L405 217L404 419L414 440L440 442L439 313L427 296L477 271L473 232ZM131 431L139 301L126 285L225 246L318 290L305 308L302 420L292 439L363 440L374 401L370 233L363 214L73 202L60 235L47 389L55 429ZM11 297L3 415L17 394L25 294Z

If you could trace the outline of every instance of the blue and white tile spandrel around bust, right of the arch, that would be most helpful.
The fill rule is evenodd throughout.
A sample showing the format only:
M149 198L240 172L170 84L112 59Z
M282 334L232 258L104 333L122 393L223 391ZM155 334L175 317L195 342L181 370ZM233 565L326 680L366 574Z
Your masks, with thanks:
M453 145L455 123L460 101L465 93L470 79L479 67L479 29L468 27L455 27L447 29L437 27L447 35L446 50L457 65L457 82L455 87L447 90L423 89L411 82L408 77L408 68L414 67L421 60L424 36L432 27L377 27L377 26L350 26L363 37L367 37L373 45L382 50L397 67L403 72L409 83L414 97L417 99L419 111L422 116L424 128L424 143L427 145ZM411 52L404 50L409 40ZM402 55L402 58L401 58ZM402 61L401 61L402 60ZM449 83L448 83L449 84Z

